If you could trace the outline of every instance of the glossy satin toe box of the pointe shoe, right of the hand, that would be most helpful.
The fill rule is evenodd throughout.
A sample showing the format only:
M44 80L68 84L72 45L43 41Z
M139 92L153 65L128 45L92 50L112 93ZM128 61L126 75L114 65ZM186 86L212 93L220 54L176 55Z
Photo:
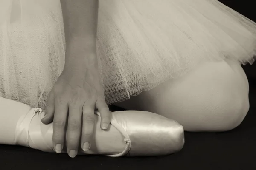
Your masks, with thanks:
M168 155L183 148L183 126L172 119L147 111L120 111L112 116L131 140L127 156Z

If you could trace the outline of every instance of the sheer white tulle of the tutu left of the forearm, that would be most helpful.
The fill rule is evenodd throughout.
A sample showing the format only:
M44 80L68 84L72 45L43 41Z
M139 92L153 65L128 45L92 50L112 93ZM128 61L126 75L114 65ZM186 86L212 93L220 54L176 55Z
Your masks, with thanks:
M58 0L0 0L0 96L45 107L64 56Z

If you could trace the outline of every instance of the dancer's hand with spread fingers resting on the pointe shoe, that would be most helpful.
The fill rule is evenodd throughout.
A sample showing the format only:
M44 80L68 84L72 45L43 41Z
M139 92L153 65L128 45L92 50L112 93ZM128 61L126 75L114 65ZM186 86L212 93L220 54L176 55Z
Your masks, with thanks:
M81 130L81 147L84 151L90 149L96 108L101 114L102 130L108 128L111 120L103 88L99 83L98 68L95 63L90 62L90 65L92 66L86 63L83 65L82 62L73 62L67 67L65 65L64 71L49 93L46 116L41 120L44 124L53 120L53 146L57 153L63 149L68 122L67 153L70 157L77 154Z

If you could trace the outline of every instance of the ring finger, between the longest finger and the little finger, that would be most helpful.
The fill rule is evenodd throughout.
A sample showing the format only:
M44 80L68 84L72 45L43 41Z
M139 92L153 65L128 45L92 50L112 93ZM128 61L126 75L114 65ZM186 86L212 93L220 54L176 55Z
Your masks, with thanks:
M87 151L90 149L90 142L94 133L94 105L84 104L82 117L81 147L84 151Z

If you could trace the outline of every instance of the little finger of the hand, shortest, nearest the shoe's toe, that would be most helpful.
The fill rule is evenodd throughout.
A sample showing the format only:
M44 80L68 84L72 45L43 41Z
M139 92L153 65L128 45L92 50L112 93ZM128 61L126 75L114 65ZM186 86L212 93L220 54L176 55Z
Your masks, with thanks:
M96 102L96 107L99 110L101 116L101 129L106 130L111 121L111 113L109 111L108 105L105 102L105 99L99 98Z

